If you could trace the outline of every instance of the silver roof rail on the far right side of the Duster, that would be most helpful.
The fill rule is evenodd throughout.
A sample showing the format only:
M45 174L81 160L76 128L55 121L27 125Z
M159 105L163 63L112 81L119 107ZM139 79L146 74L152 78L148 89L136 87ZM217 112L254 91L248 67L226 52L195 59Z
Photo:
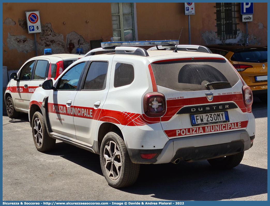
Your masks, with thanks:
M159 49L166 49L166 48L175 48L175 45L170 45L170 46L155 46L151 47L150 49L147 50L159 50ZM196 51L196 52L204 52L204 53L210 53L210 49L208 49L205 46L199 46L199 45L177 45L177 51Z

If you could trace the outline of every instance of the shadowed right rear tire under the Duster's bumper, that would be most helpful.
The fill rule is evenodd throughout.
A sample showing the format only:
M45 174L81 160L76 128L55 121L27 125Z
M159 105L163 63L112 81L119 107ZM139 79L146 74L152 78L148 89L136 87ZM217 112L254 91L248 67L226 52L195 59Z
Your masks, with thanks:
M213 167L219 169L231 169L236 167L242 161L244 152L239 152L235 155L229 155L226 157L218 157L207 160Z

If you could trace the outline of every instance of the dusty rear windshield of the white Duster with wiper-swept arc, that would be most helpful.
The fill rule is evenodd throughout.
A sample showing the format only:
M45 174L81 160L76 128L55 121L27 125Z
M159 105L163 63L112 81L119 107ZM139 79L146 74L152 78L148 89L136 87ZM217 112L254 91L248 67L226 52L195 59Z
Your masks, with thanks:
M225 60L169 61L151 66L157 85L177 91L230 88L239 81L237 73Z

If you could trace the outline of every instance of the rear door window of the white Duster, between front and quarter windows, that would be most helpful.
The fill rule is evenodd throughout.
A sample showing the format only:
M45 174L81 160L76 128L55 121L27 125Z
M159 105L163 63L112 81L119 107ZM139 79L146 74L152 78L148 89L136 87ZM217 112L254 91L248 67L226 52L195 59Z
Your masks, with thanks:
M106 61L93 61L87 71L83 90L104 90L109 63Z

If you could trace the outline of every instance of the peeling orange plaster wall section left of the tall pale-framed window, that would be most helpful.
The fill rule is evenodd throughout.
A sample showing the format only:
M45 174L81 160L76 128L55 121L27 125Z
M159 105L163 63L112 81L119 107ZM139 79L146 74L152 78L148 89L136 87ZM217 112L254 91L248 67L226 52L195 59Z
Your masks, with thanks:
M38 55L43 55L46 48L53 53L75 53L80 46L86 53L91 40L105 42L113 36L110 3L3 3L3 65L8 70L17 70L35 57L34 35L28 34L26 11L40 12Z

